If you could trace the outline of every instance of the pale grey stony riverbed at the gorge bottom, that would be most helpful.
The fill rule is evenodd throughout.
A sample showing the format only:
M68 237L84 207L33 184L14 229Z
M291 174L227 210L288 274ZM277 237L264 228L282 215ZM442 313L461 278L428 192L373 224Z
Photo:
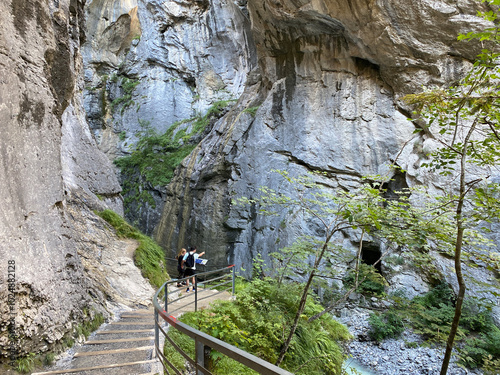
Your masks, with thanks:
M368 317L371 311L362 308L343 309L338 318L347 325L354 340L348 351L355 361L365 366L366 373L380 375L434 375L439 374L444 348L417 346L422 340L418 335L405 331L400 339L385 340L382 343L369 341ZM448 369L449 375L480 375L481 371L464 369L454 359Z

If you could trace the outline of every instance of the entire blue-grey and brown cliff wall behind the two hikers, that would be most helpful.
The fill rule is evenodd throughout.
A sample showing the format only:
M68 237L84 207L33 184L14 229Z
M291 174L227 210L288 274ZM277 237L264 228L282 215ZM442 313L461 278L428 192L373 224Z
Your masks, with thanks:
M213 267L234 263L249 273L258 254L269 262L299 234L318 235L317 226L285 212L263 217L231 204L260 186L286 190L272 169L324 172L331 189L385 173L394 187L448 188L420 168L433 137L413 134L418 124L407 121L411 109L399 98L463 75L480 45L457 35L486 25L477 16L484 4L93 0L86 9L93 37L84 45L85 103L110 159L128 155L145 125L189 132L194 117L234 100L190 140L196 148L168 185L122 174L123 186L154 201L128 200L126 216L154 232L167 258L197 245ZM394 162L406 172L391 172ZM335 241L354 251L357 236ZM438 263L451 282L449 263ZM426 290L408 270L392 282L411 295Z

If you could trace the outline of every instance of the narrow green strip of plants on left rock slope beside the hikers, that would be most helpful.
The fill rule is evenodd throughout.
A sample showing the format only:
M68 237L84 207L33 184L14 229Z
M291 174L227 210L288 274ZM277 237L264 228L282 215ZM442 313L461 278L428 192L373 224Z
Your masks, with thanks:
M116 212L104 210L97 214L116 230L118 237L132 238L139 241L139 247L135 250L134 254L136 266L141 270L142 275L149 279L153 286L157 288L162 286L169 278L163 267L165 259L163 249L150 237L142 234L138 229L128 224Z

